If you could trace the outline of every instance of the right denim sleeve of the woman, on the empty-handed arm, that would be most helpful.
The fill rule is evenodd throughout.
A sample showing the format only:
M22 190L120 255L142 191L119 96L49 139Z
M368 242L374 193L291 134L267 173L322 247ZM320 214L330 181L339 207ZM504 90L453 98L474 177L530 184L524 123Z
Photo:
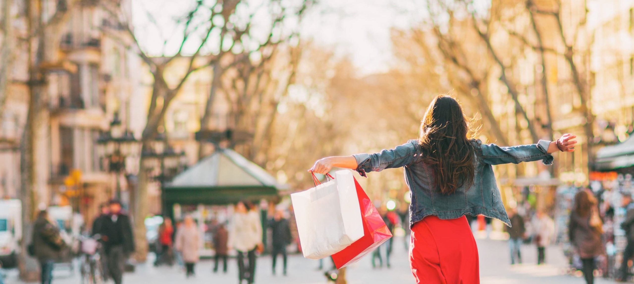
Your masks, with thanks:
M481 143L481 142L480 142ZM545 165L552 165L553 156L547 153L550 141L540 140L537 144L500 147L495 144L483 144L482 162L489 165L519 164L542 160Z

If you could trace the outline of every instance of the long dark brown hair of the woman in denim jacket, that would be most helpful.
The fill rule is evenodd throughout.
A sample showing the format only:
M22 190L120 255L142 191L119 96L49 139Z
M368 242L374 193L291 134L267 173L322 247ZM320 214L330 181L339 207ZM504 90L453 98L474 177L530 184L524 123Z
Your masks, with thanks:
M424 162L434 169L434 180L444 195L474 183L476 150L471 140L475 132L469 122L460 103L441 94L429 104L420 124L418 143Z

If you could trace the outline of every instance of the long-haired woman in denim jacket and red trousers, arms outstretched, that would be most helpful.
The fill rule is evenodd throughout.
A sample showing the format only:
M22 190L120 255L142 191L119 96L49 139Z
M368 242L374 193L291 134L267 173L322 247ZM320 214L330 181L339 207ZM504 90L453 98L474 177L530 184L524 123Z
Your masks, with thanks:
M309 170L332 167L367 172L405 167L412 204L410 266L417 283L479 283L475 239L465 214L483 214L510 225L491 165L543 160L573 152L576 136L500 147L475 139L460 103L440 95L430 103L420 137L374 154L321 158Z

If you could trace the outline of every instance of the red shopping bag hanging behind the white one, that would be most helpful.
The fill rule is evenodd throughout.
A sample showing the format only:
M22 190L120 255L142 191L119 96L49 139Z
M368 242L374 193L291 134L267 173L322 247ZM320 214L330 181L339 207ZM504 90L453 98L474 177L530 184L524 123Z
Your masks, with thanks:
M383 218L378 214L368 195L354 179L359 207L361 207L361 219L363 219L363 237L347 246L340 252L332 255L337 269L359 261L366 254L392 237L392 233L385 225Z

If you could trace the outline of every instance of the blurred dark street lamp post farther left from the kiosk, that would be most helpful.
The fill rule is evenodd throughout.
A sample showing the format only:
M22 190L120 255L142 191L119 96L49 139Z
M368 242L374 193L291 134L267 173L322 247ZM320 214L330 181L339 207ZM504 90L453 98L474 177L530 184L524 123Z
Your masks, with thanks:
M117 177L115 197L121 198L120 176L126 171L126 158L138 155L139 141L128 129L124 129L119 119L119 113L114 113L110 129L102 132L97 139L97 152L99 157L108 160L108 171Z

